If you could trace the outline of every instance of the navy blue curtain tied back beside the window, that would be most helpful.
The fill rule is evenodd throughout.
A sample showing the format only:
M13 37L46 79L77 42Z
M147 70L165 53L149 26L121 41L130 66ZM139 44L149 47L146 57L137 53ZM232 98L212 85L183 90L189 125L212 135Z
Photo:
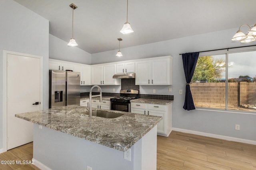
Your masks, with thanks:
M193 101L191 90L190 90L190 82L193 77L194 70L196 68L196 62L198 60L198 56L199 56L199 52L182 54L183 68L184 68L186 82L187 82L185 103L183 106L185 110L196 109L194 106L194 101Z

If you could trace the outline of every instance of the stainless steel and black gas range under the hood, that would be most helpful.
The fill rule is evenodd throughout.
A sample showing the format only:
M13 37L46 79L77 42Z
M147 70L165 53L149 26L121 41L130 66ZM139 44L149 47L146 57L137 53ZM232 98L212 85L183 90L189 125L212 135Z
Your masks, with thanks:
M120 90L120 97L111 98L111 109L130 112L130 100L139 98L139 90Z

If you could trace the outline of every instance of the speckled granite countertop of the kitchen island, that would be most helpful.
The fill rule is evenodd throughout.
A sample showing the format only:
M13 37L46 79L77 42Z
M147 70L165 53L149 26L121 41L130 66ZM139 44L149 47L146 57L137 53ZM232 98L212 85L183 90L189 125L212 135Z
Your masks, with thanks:
M113 119L92 116L90 120L88 115L84 114L87 109L88 107L70 105L20 113L15 116L121 151L126 151L132 147L162 120L162 117L158 116L114 110L104 111L123 113L124 115Z

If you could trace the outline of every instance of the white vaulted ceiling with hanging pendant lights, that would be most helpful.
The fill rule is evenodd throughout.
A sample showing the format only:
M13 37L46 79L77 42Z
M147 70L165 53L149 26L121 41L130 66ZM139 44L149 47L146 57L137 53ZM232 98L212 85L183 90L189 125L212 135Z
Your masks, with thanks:
M15 1L49 20L50 34L67 43L72 37L69 5L74 3L74 38L91 54L118 49L120 37L122 49L256 23L255 0L129 0L134 33L123 35L126 0Z

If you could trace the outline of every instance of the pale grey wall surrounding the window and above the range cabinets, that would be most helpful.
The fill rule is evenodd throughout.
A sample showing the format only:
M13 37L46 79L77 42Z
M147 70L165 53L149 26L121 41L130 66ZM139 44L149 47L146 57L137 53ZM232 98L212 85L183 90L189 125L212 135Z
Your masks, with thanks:
M230 41L231 37L237 30L238 28L228 29L123 48L120 49L124 55L123 57L115 56L118 50L95 53L92 54L92 64L171 55L173 57L173 84L171 86L140 86L140 90L143 94L152 94L152 89L154 88L156 89L156 94L174 95L174 102L172 104L172 126L191 131L256 141L256 114L206 110L186 111L182 108L184 104L186 81L182 57L179 54L211 49L222 49L227 47L238 47L240 46L240 43ZM255 44L256 43L253 43L251 45ZM168 92L169 87L172 88L172 92ZM183 90L183 94L179 94L179 90ZM240 131L235 130L235 124L240 125Z

